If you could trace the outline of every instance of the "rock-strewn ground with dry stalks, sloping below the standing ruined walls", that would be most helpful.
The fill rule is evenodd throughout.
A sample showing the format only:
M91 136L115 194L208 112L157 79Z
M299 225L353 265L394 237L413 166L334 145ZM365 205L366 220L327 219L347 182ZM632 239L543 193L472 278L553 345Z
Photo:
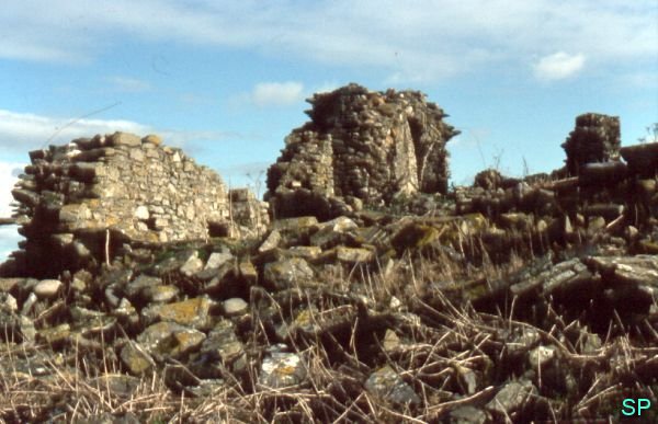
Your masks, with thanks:
M134 250L98 275L0 279L0 404L14 405L0 413L75 419L103 385L120 386L114 416L190 422L593 420L651 397L658 260L629 252L656 231L575 224L582 251L542 228L500 244L499 222L290 218L252 241Z

